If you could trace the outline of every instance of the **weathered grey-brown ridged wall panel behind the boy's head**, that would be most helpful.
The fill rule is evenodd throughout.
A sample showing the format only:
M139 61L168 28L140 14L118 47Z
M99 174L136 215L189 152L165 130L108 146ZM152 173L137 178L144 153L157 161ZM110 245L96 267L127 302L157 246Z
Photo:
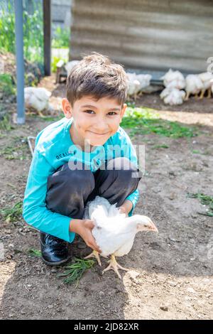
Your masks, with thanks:
M73 0L70 59L91 51L127 68L206 71L213 1Z

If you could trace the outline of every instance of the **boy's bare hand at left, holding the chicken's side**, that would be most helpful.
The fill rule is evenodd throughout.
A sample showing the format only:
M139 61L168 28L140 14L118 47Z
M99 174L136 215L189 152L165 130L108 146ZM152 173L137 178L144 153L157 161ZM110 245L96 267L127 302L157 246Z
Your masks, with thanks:
M92 235L92 229L94 227L94 222L90 219L77 219L71 220L70 222L70 232L76 232L78 235L84 239L84 242L90 248L101 253L101 249L97 246L97 243L94 240Z

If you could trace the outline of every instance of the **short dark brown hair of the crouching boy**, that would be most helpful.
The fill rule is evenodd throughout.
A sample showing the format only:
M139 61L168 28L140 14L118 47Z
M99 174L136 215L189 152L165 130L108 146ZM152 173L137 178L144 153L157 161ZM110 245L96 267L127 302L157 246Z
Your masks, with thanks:
M85 55L67 77L67 99L72 106L85 95L92 95L97 100L112 97L123 105L127 90L124 68L100 53Z

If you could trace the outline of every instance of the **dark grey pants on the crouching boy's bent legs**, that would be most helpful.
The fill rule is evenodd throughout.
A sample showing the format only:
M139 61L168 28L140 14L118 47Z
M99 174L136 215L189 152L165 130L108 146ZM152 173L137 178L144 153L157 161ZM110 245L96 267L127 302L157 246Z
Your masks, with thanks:
M71 170L68 163L48 178L46 205L61 215L82 219L88 200L96 195L121 206L125 198L138 188L139 170L127 158L115 158L105 169L95 173L88 169Z

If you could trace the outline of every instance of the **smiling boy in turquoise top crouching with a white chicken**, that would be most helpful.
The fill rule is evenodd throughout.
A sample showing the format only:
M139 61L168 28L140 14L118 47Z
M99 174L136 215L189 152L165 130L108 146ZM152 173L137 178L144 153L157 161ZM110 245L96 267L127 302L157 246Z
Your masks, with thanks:
M101 252L84 207L96 195L126 215L138 200L137 156L119 124L124 116L126 73L99 53L85 56L67 77L65 117L40 131L28 174L23 218L40 230L43 262L69 259L68 243L80 235Z

